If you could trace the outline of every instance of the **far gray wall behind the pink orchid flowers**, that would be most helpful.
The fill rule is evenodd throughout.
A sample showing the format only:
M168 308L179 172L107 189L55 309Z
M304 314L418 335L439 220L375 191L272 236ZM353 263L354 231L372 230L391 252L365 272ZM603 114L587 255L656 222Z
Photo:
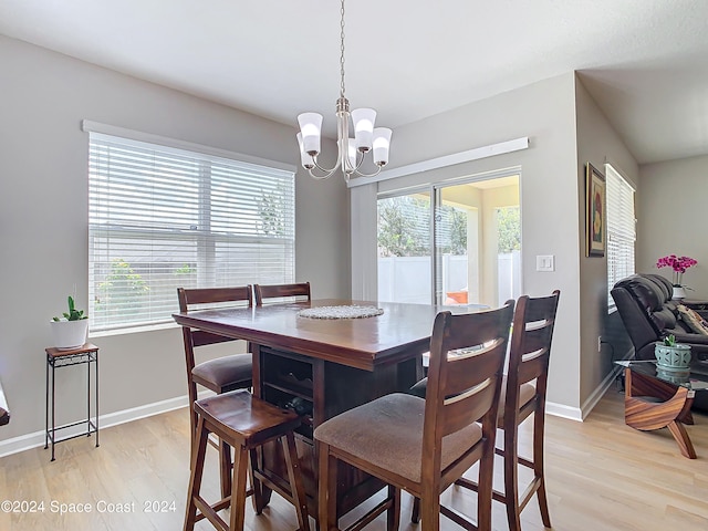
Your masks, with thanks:
M687 256L698 264L684 273L690 299L708 299L708 246L702 209L708 198L708 156L639 168L642 194L637 210L637 271L671 278L668 268L656 269L667 254Z

